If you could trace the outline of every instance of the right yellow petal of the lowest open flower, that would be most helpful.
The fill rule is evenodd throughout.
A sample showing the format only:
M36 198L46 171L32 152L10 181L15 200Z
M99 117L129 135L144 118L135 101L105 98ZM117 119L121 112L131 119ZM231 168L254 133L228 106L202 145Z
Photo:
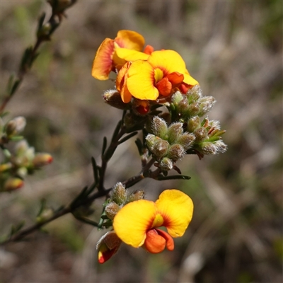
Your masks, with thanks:
M156 200L158 212L163 216L168 233L183 236L192 219L193 204L190 197L180 190L164 190Z

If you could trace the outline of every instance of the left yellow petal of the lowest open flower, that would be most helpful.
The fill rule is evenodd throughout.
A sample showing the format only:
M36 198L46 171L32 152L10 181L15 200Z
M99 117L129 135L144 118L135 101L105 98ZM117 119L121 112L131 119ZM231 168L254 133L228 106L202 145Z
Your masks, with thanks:
M143 245L146 231L151 228L156 215L156 205L149 200L129 202L116 214L113 228L117 236L134 248Z

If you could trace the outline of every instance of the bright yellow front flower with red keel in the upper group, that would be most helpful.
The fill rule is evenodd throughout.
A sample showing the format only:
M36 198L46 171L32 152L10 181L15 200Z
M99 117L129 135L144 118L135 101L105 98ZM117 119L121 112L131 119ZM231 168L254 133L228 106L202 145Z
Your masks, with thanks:
M156 100L158 96L170 96L175 88L187 91L198 82L190 76L180 54L173 50L151 52L147 59L141 52L130 54L119 50L120 59L127 64L120 69L116 87L124 103L132 96L140 100ZM145 57L146 55L143 55Z

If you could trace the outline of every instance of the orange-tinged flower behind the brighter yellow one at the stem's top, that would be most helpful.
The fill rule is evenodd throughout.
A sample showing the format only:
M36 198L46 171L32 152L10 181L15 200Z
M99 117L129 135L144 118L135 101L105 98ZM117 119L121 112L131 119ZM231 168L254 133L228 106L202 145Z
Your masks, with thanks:
M144 37L142 35L132 30L120 30L114 40L106 38L101 43L93 60L92 76L99 80L106 80L110 71L120 69L125 64L125 59L120 59L115 54L119 48L141 51L143 47Z

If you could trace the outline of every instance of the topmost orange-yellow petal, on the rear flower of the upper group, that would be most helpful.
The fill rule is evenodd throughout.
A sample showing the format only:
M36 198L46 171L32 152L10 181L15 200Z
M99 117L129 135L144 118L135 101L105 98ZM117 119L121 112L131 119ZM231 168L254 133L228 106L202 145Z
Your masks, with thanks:
M115 42L120 47L141 51L144 47L144 37L132 30L119 30Z

